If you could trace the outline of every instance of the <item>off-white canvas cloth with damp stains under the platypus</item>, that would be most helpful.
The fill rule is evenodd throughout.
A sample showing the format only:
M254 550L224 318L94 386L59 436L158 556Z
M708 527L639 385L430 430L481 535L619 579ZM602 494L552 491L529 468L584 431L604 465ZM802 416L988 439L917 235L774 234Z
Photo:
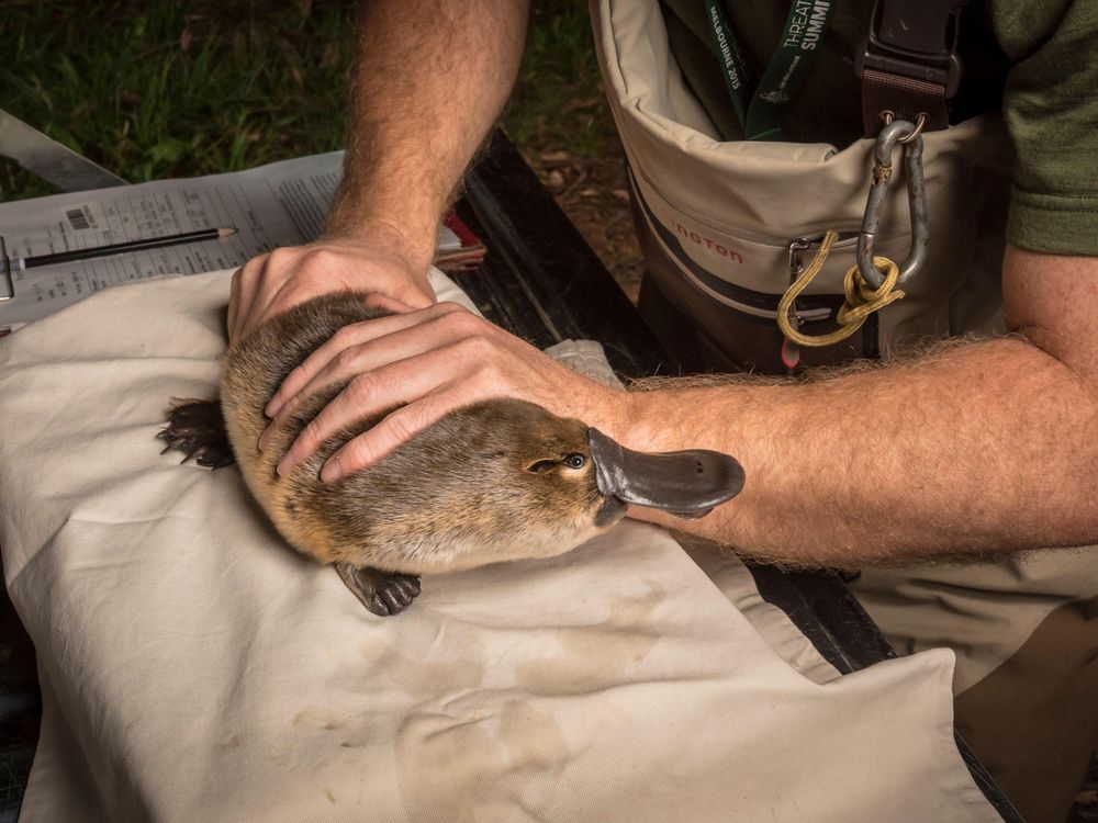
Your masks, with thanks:
M648 526L367 612L235 469L158 453L168 398L214 391L227 295L123 286L0 341L44 702L23 821L998 820L951 652L815 683Z

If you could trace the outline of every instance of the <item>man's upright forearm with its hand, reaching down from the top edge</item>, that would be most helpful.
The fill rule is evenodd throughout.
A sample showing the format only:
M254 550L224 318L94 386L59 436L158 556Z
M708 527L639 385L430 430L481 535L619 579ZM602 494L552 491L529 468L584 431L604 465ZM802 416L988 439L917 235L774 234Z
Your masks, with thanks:
M520 0L363 3L344 180L326 234L237 272L231 338L324 292L433 302L439 219L514 83L526 14Z

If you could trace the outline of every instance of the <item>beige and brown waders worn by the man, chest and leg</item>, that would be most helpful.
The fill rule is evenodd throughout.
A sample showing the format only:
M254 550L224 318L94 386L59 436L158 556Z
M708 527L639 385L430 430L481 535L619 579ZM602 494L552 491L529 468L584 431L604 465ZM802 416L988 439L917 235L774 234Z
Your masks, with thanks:
M781 371L789 352L778 298L830 230L839 240L796 315L805 334L836 327L874 140L841 151L722 143L683 82L658 3L593 0L591 11L629 159L649 300L658 291L656 302L697 329L687 348L708 362ZM887 359L928 338L1001 331L1012 160L994 115L925 134L925 266L904 283L904 300L841 343L800 347L799 362ZM903 263L911 221L898 168L881 217L875 253ZM957 729L1026 820L1063 823L1098 748L1098 548L866 572L853 588L898 652L955 650Z

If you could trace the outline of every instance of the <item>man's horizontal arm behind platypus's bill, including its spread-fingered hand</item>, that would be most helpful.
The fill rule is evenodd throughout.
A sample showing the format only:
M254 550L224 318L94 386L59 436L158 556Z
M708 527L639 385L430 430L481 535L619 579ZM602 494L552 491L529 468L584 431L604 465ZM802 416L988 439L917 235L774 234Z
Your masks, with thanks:
M1098 542L1098 259L1011 248L1004 295L1006 338L807 384L631 394L568 373L468 313L412 312L381 345L363 331L337 359L332 343L321 358L328 376L354 379L281 467L394 403L407 405L334 455L325 480L452 408L512 396L630 448L733 454L747 485L708 517L631 514L761 557L853 567Z

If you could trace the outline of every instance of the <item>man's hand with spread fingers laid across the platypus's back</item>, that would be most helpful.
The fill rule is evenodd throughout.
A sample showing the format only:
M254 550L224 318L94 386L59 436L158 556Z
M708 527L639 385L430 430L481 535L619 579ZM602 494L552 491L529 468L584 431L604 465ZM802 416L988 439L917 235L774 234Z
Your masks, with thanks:
M576 417L615 436L628 419L630 395L608 388L455 303L413 309L373 295L388 317L336 332L282 384L267 408L280 426L321 386L350 381L298 437L279 463L285 474L325 439L369 415L394 409L332 455L321 478L333 482L374 462L457 408L511 397Z

